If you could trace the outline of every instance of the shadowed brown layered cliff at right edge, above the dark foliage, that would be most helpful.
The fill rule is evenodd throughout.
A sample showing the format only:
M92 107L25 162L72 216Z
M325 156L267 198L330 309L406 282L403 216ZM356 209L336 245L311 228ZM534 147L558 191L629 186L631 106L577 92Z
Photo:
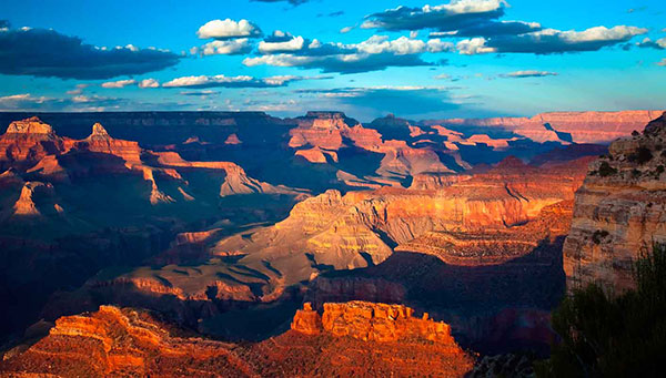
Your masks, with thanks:
M564 246L567 285L632 287L630 269L653 242L666 241L666 115L643 134L614 142L576 192Z

